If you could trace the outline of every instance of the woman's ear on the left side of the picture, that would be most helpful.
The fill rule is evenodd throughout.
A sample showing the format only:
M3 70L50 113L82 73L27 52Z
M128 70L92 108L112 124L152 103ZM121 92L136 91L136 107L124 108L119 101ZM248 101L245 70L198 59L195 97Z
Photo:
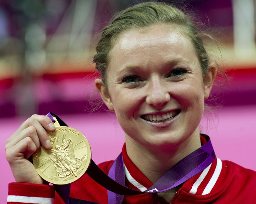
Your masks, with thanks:
M96 87L98 93L101 95L103 102L108 107L108 109L111 111L114 111L113 104L112 104L110 95L108 94L106 85L99 78L95 79L94 84L95 84L95 87Z

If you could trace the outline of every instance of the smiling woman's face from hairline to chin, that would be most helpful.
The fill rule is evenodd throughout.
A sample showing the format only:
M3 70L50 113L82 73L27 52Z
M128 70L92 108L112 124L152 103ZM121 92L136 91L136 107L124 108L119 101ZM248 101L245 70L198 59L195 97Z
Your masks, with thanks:
M101 93L126 137L156 148L195 132L212 86L207 84L190 40L178 28L157 24L119 36Z

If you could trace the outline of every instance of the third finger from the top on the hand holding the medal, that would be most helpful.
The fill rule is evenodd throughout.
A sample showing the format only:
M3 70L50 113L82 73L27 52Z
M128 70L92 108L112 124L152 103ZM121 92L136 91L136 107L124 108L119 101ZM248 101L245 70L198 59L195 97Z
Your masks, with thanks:
M40 141L37 135L36 128L34 126L30 126L26 129L23 129L17 137L13 137L12 140L10 140L10 142L6 144L5 150L14 147L18 142L26 137L30 137L32 139L37 149L40 147Z

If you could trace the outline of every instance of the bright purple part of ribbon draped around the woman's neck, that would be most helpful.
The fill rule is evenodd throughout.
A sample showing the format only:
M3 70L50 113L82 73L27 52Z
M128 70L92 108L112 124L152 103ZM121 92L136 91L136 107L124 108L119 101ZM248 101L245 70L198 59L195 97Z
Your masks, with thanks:
M207 135L202 134L206 139L207 143L191 154L187 155L176 165L174 165L169 171L165 173L157 182L144 192L137 191L138 193L159 193L171 188L174 188L181 183L187 181L189 178L197 175L199 172L206 169L214 158L215 153L210 142L210 138ZM108 176L119 184L125 186L125 173L122 153L119 154L117 159L113 162ZM157 190L156 190L157 189ZM135 190L133 190L135 191ZM107 191L108 204L121 204L124 195L116 194L111 191Z

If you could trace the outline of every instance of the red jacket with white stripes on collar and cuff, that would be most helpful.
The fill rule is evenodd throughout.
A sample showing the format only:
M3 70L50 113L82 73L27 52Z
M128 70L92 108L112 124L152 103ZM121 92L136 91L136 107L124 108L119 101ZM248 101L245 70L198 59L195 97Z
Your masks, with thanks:
M123 158L126 166L126 186L133 189L143 189L152 183L133 164L123 147ZM98 166L108 173L113 161L107 161ZM70 197L95 203L107 204L107 190L92 180L87 174L72 183ZM27 200L26 200L27 199ZM7 204L27 203L63 204L52 186L10 183ZM157 204L153 194L125 196L123 203L127 204ZM255 204L256 203L256 172L245 169L231 161L218 158L205 170L193 176L178 189L171 203L176 204ZM72 204L72 202L70 203Z

